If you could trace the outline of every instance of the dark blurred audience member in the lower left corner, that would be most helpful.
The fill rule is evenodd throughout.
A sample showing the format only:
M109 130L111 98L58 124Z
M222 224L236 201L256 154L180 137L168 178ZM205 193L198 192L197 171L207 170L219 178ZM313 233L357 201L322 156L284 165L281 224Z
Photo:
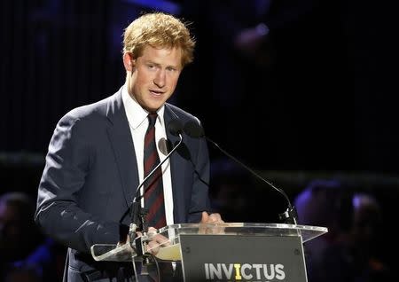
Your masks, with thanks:
M0 280L57 278L56 257L34 223L35 201L26 192L0 197ZM38 252L40 250L40 252ZM43 259L40 253L47 252ZM40 259L42 257L42 259Z

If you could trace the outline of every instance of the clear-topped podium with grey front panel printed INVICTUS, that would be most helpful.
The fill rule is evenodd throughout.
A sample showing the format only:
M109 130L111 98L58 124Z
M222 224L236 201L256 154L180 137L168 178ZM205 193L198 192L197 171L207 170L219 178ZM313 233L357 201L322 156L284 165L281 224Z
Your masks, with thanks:
M306 282L303 243L327 231L286 223L172 224L135 239L136 249L97 244L91 255L96 261L133 262L137 275L153 271L160 281ZM149 243L154 240L159 244ZM165 264L173 271L162 272Z

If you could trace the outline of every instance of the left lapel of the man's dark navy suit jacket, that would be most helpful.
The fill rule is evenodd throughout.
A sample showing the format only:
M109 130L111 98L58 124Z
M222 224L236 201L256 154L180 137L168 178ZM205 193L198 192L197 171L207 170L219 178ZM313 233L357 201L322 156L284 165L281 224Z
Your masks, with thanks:
M113 95L113 99L107 106L106 115L112 123L112 126L108 128L108 137L113 146L126 204L129 206L138 186L138 171L129 121L121 99L121 90Z

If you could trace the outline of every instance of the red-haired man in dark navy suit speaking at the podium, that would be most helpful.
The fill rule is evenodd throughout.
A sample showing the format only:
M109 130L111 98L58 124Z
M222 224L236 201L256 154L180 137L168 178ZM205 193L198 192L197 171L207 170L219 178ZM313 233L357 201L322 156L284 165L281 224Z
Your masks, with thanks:
M38 188L35 222L68 247L66 281L131 277L131 262L95 262L90 247L127 240L130 218L124 215L145 176L147 116L156 114L157 144L178 141L168 132L171 120L200 122L166 102L192 61L195 43L184 23L148 13L125 29L123 43L125 84L113 96L60 119ZM157 151L164 159L166 153ZM182 145L161 168L166 224L223 222L219 214L207 214L205 140L184 134Z

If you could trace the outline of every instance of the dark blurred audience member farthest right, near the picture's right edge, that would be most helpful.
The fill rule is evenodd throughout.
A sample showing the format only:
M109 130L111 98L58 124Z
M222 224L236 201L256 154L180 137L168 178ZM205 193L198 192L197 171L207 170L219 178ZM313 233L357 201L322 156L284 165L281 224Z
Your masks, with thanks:
M346 234L325 250L322 269L325 282L393 281L384 262L382 210L370 193L356 192L352 199L352 225Z

